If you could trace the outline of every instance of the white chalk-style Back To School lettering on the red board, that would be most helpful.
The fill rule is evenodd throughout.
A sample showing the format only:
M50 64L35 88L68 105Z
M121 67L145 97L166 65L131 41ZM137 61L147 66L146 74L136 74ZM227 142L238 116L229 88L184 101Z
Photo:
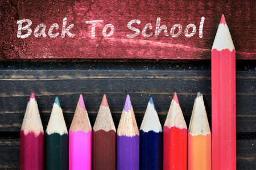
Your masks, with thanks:
M47 32L47 25L44 23L40 23L34 29L34 37L43 37L46 38L47 36L50 38L56 38L60 36L61 38L64 37L75 37L76 34L72 32L72 28L75 27L74 24L67 24L67 18L63 18L63 23L61 30L59 29L59 24L53 23L49 26ZM199 24L199 37L203 37L203 27L204 27L204 16L201 17L200 24ZM104 20L86 20L84 22L86 26L90 27L90 35L91 37L96 36L103 36L105 38L111 37L114 35L115 27L111 23L104 24L104 28L102 29L102 35L96 35L96 28L98 24L104 23ZM17 37L20 39L26 39L27 37L31 36L32 34L32 21L30 19L22 19L17 21L18 24L18 31ZM141 25L141 20L133 19L127 23L127 34L124 35L127 39L133 39L138 35L142 35L144 38L149 38L154 35L154 37L158 37L161 32L166 37L171 36L172 38L179 37L183 32L184 36L187 38L193 37L196 34L197 28L196 25L191 23L183 27L181 24L176 23L172 25L171 28L168 29L167 25L161 22L161 18L156 19L155 28L153 28L151 23L146 23L141 31L141 29L137 28L138 25ZM100 28L97 28L100 29Z

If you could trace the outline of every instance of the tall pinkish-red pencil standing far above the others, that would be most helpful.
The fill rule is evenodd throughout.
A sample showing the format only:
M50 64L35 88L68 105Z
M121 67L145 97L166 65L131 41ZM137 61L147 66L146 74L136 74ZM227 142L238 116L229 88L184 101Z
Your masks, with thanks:
M212 46L212 168L236 169L236 50L223 14Z

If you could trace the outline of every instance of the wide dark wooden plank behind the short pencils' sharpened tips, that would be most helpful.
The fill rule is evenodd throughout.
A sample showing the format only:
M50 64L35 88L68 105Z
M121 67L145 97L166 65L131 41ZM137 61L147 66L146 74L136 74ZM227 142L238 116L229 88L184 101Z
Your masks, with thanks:
M119 63L120 65L122 63ZM0 70L0 103L3 106L0 107L0 131L19 131L31 92L36 93L40 112L43 113L44 126L47 124L55 95L60 97L64 113L70 114L67 117L67 122L70 122L79 94L84 95L88 112L94 114L98 111L104 93L108 96L110 109L114 114L121 113L126 94L131 95L135 113L144 113L147 101L152 96L159 114L166 114L172 95L177 91L188 124L193 100L196 92L200 91L204 94L210 120L209 70L177 70L176 67L167 69L166 65L163 65L163 70L160 70L162 67L152 66L135 67L134 70L134 67L93 69L80 66L79 70L4 68ZM256 129L255 80L255 70L237 71L238 132L255 132ZM115 120L115 124L118 124L118 121L119 118ZM164 122L164 118L161 121Z

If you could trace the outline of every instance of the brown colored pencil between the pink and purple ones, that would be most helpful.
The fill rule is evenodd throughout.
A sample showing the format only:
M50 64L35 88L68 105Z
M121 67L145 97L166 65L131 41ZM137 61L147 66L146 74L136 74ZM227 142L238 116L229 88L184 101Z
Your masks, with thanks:
M93 126L93 169L115 170L116 131L106 95Z

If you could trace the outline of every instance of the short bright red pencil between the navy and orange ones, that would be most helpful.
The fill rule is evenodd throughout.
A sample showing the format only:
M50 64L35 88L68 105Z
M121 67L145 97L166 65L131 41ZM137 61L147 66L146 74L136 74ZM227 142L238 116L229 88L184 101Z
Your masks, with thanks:
M188 130L176 92L164 123L163 169L187 170Z

